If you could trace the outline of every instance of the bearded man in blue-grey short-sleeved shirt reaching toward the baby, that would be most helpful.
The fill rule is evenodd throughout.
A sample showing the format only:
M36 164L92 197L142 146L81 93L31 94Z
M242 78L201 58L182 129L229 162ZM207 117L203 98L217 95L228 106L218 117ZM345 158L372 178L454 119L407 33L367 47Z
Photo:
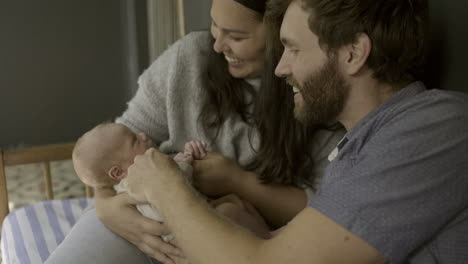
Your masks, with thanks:
M274 0L269 13L284 16L275 73L296 118L347 130L307 208L257 238L156 150L129 169L131 195L157 206L193 263L466 263L468 97L417 79L427 1Z

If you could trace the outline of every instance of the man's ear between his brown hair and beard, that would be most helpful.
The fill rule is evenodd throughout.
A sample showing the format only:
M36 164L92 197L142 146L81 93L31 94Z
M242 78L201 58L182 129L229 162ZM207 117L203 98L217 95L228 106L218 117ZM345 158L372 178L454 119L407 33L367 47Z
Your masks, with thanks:
M359 33L356 40L343 48L344 72L348 75L358 74L366 65L372 50L372 41L365 33Z

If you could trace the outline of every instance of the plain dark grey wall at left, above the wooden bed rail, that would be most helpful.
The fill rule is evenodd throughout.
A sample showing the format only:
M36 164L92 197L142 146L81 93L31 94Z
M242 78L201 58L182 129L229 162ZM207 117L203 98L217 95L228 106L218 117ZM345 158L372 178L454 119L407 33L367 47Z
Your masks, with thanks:
M124 110L133 91L122 7L1 2L0 147L72 141Z

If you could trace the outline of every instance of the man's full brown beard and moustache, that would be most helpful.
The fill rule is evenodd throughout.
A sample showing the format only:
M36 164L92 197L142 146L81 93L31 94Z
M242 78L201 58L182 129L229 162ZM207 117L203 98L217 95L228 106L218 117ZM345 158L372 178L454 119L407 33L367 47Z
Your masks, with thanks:
M312 73L303 86L293 79L288 83L301 92L302 103L296 103L294 116L304 125L327 125L336 121L348 97L349 84L340 74L333 57Z

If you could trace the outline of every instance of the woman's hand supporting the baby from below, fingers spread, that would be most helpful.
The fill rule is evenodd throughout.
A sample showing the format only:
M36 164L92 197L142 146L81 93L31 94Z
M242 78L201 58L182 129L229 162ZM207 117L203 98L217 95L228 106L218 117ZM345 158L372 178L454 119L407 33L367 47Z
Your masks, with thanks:
M142 216L128 194L112 194L111 190L97 190L95 198L97 215L110 230L161 263L172 264L172 255L182 256L180 249L161 239L168 234L164 225Z

